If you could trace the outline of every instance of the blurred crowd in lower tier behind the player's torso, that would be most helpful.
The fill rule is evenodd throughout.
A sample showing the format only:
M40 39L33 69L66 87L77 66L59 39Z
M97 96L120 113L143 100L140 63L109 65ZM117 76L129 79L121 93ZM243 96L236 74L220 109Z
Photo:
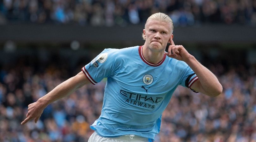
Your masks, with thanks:
M86 85L44 110L37 124L20 123L27 105L81 71L66 62L0 64L1 142L84 142L101 114L105 81ZM89 61L88 61L89 62ZM155 142L256 142L256 66L208 64L223 86L215 98L178 87L162 114Z

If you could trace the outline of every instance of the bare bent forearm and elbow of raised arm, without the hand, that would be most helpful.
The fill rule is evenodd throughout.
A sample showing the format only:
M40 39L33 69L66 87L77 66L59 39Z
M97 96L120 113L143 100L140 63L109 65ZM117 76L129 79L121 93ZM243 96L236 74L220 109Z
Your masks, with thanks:
M190 56L185 62L192 68L199 79L201 85L196 88L197 91L208 96L217 96L221 94L222 85L209 69L198 62L194 56Z

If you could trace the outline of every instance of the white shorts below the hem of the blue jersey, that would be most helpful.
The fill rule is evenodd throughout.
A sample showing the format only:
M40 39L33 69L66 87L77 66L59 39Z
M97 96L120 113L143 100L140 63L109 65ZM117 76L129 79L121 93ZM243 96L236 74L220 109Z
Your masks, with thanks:
M96 132L94 132L88 142L148 142L148 138L140 137L137 135L123 135L120 137L113 138L105 138L99 136Z

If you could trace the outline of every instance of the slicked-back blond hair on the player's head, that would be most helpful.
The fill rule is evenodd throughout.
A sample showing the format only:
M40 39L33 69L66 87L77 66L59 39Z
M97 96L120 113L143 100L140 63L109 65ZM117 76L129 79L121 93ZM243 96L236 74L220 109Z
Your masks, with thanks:
M151 20L167 22L170 25L171 33L173 33L173 30L174 30L173 21L168 15L166 15L164 13L161 13L161 12L152 14L151 16L149 16L148 20L145 23L145 27L144 27L145 29L147 28L148 22L151 21ZM146 38L144 36L145 35L142 33L142 38L144 40L146 40Z

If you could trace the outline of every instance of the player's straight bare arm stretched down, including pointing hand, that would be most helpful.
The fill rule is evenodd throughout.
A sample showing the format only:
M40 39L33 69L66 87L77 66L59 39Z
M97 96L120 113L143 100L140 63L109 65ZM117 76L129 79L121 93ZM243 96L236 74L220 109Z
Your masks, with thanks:
M70 95L72 92L76 91L78 88L84 86L89 81L86 76L81 71L76 74L76 76L62 82L60 85L56 86L51 92L47 93L42 98L39 98L36 102L28 105L27 118L21 122L21 125L27 123L34 119L35 123L39 120L43 110L47 105L52 102Z

